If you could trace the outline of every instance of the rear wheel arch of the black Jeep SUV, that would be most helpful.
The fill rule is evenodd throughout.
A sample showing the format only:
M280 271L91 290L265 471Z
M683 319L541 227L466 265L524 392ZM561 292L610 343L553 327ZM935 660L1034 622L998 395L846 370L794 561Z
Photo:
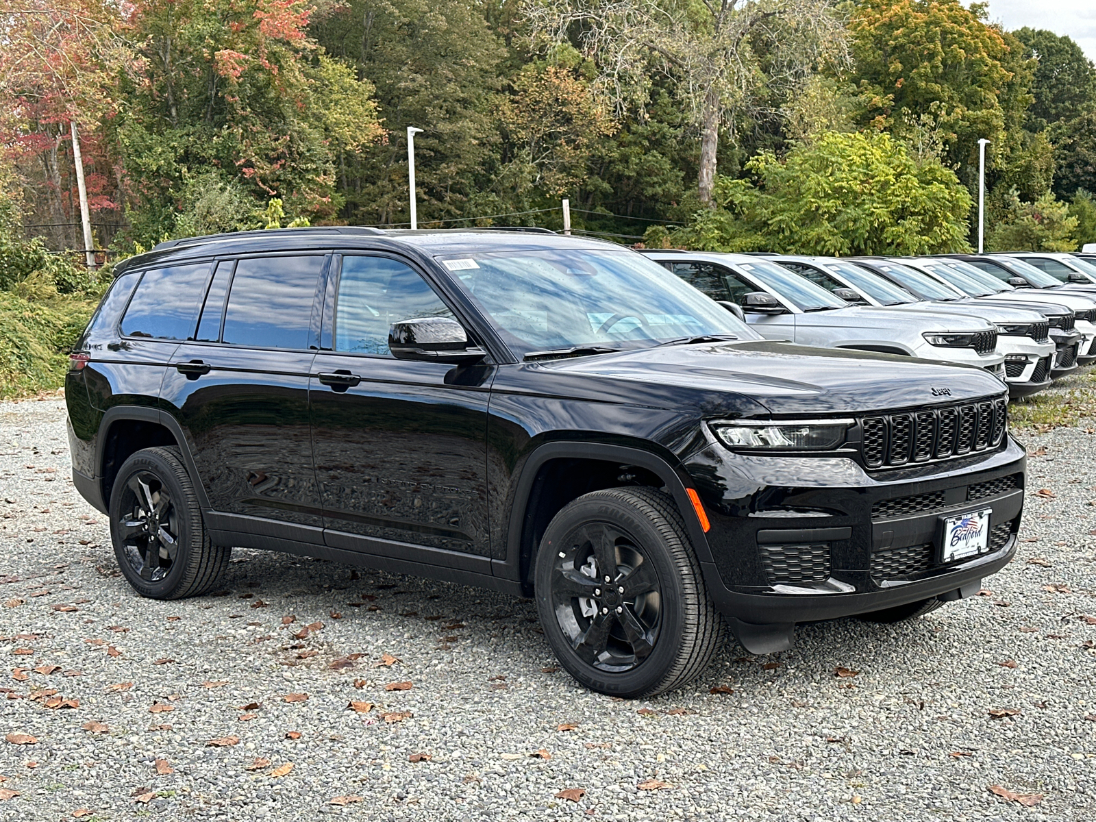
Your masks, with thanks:
M103 503L110 506L111 490L122 464L142 448L158 445L174 446L183 456L203 509L209 507L209 500L194 464L186 442L186 435L179 421L159 409L141 406L115 406L103 414L99 426L100 436L95 444L95 467L99 469L99 487Z

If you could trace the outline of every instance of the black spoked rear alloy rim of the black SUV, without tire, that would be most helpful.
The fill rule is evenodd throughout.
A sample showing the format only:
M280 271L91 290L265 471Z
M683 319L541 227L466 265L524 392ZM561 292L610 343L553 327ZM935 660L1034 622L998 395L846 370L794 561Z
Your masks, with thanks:
M122 553L130 570L146 582L160 582L179 555L179 515L171 494L151 471L138 471L126 481L118 525Z

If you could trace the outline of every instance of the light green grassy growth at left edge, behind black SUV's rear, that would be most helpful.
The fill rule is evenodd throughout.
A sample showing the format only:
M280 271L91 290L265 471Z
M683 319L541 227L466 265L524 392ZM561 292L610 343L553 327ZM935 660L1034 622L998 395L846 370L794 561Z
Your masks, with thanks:
M0 290L0 399L60 388L68 350L95 304L65 296L31 301Z

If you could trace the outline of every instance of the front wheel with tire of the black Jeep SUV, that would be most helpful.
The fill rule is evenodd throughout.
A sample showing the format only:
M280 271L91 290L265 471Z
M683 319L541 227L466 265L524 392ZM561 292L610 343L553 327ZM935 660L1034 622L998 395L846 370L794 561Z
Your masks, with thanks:
M560 664L602 694L682 687L722 640L682 515L652 488L594 491L566 505L540 540L534 582Z

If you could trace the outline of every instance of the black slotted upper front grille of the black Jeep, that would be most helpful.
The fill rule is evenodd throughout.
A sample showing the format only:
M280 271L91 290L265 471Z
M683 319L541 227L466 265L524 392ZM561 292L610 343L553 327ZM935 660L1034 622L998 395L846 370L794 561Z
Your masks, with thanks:
M868 468L897 467L995 448L1005 433L1005 406L1004 399L994 399L865 418L864 463Z

